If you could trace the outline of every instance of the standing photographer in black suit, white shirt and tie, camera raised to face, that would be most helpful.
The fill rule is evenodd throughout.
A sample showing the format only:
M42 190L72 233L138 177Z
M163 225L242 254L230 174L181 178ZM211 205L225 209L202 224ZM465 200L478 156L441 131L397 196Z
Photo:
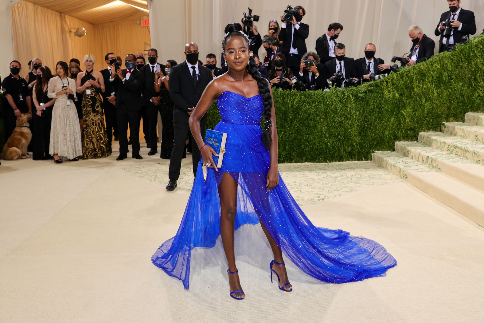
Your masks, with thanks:
M291 9L288 6L287 11L294 11L292 15L289 13L281 15L283 24L279 32L279 40L283 42L281 51L287 57L287 65L296 74L299 71L302 55L307 52L306 38L309 36L309 25L301 22L302 17L306 15L302 6Z

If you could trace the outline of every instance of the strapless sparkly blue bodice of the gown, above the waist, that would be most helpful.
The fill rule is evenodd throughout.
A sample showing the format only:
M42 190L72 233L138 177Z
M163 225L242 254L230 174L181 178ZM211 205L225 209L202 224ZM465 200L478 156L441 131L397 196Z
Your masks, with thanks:
M260 94L248 98L226 91L218 97L217 104L225 123L259 125L264 111L264 99Z

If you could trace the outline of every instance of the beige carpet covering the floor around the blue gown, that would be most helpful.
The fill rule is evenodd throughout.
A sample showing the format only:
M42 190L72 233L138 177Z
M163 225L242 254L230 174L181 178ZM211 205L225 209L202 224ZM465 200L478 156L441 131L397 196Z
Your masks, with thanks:
M262 231L244 226L236 252L246 299L228 296L219 242L194 250L183 290L151 254L178 229L191 156L181 187L166 192L168 161L147 153L1 161L0 322L484 322L484 229L372 162L279 168L314 224L392 253L398 265L386 277L325 284L288 262L294 291L281 292Z

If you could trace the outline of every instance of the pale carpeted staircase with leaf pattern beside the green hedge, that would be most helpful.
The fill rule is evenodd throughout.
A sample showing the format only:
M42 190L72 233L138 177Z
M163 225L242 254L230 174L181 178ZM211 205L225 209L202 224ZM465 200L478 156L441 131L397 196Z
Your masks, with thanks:
M373 162L484 227L484 113L396 142Z

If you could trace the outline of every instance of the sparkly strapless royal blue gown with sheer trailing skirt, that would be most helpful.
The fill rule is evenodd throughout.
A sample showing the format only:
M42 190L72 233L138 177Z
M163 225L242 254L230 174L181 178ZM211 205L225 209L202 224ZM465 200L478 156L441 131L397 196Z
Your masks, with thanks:
M177 234L166 240L151 261L177 277L188 289L190 253L194 247L213 247L220 234L220 200L217 187L224 173L238 183L235 229L260 221L283 253L304 273L330 283L346 283L385 276L396 261L377 242L343 230L315 227L292 198L279 175L279 185L267 192L269 151L263 146L260 120L263 99L224 92L217 100L222 121L215 130L227 133L222 167L207 169L202 163ZM258 215L258 216L257 216Z

